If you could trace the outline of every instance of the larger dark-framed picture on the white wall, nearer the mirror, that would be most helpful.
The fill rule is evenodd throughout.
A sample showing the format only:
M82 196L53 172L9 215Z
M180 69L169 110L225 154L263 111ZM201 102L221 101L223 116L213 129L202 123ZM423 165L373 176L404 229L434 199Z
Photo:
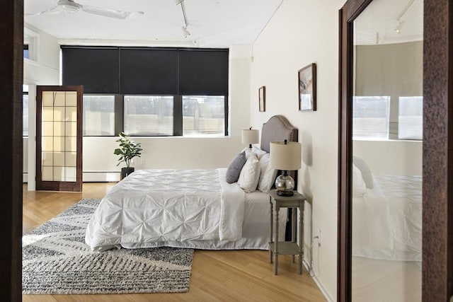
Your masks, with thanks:
M316 63L299 69L299 111L316 111Z

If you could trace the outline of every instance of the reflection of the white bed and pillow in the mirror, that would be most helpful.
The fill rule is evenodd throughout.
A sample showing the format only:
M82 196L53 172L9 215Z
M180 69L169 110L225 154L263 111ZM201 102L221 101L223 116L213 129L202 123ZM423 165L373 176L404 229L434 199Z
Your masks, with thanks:
M373 175L354 157L352 179L352 255L421 261L422 177Z

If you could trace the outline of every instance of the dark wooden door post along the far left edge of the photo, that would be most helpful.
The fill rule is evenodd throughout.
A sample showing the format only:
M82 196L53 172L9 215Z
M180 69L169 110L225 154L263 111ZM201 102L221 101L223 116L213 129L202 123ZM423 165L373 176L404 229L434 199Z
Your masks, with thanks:
M23 0L0 3L0 301L21 301Z

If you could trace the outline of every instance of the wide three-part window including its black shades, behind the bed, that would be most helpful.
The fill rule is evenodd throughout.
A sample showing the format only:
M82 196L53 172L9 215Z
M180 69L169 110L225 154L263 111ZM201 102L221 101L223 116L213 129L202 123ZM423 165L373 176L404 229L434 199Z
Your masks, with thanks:
M61 48L63 85L90 95L85 136L228 135L229 50Z

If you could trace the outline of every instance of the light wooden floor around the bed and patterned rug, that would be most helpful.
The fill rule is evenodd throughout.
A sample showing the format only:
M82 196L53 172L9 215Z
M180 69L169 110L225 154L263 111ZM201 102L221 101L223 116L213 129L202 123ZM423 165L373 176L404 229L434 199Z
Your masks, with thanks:
M23 190L23 232L67 209L80 199L101 198L114 183L84 183L84 192ZM326 301L304 269L297 274L291 257L280 256L273 274L268 251L195 250L190 289L184 294L23 295L23 301ZM297 262L297 260L296 260Z

